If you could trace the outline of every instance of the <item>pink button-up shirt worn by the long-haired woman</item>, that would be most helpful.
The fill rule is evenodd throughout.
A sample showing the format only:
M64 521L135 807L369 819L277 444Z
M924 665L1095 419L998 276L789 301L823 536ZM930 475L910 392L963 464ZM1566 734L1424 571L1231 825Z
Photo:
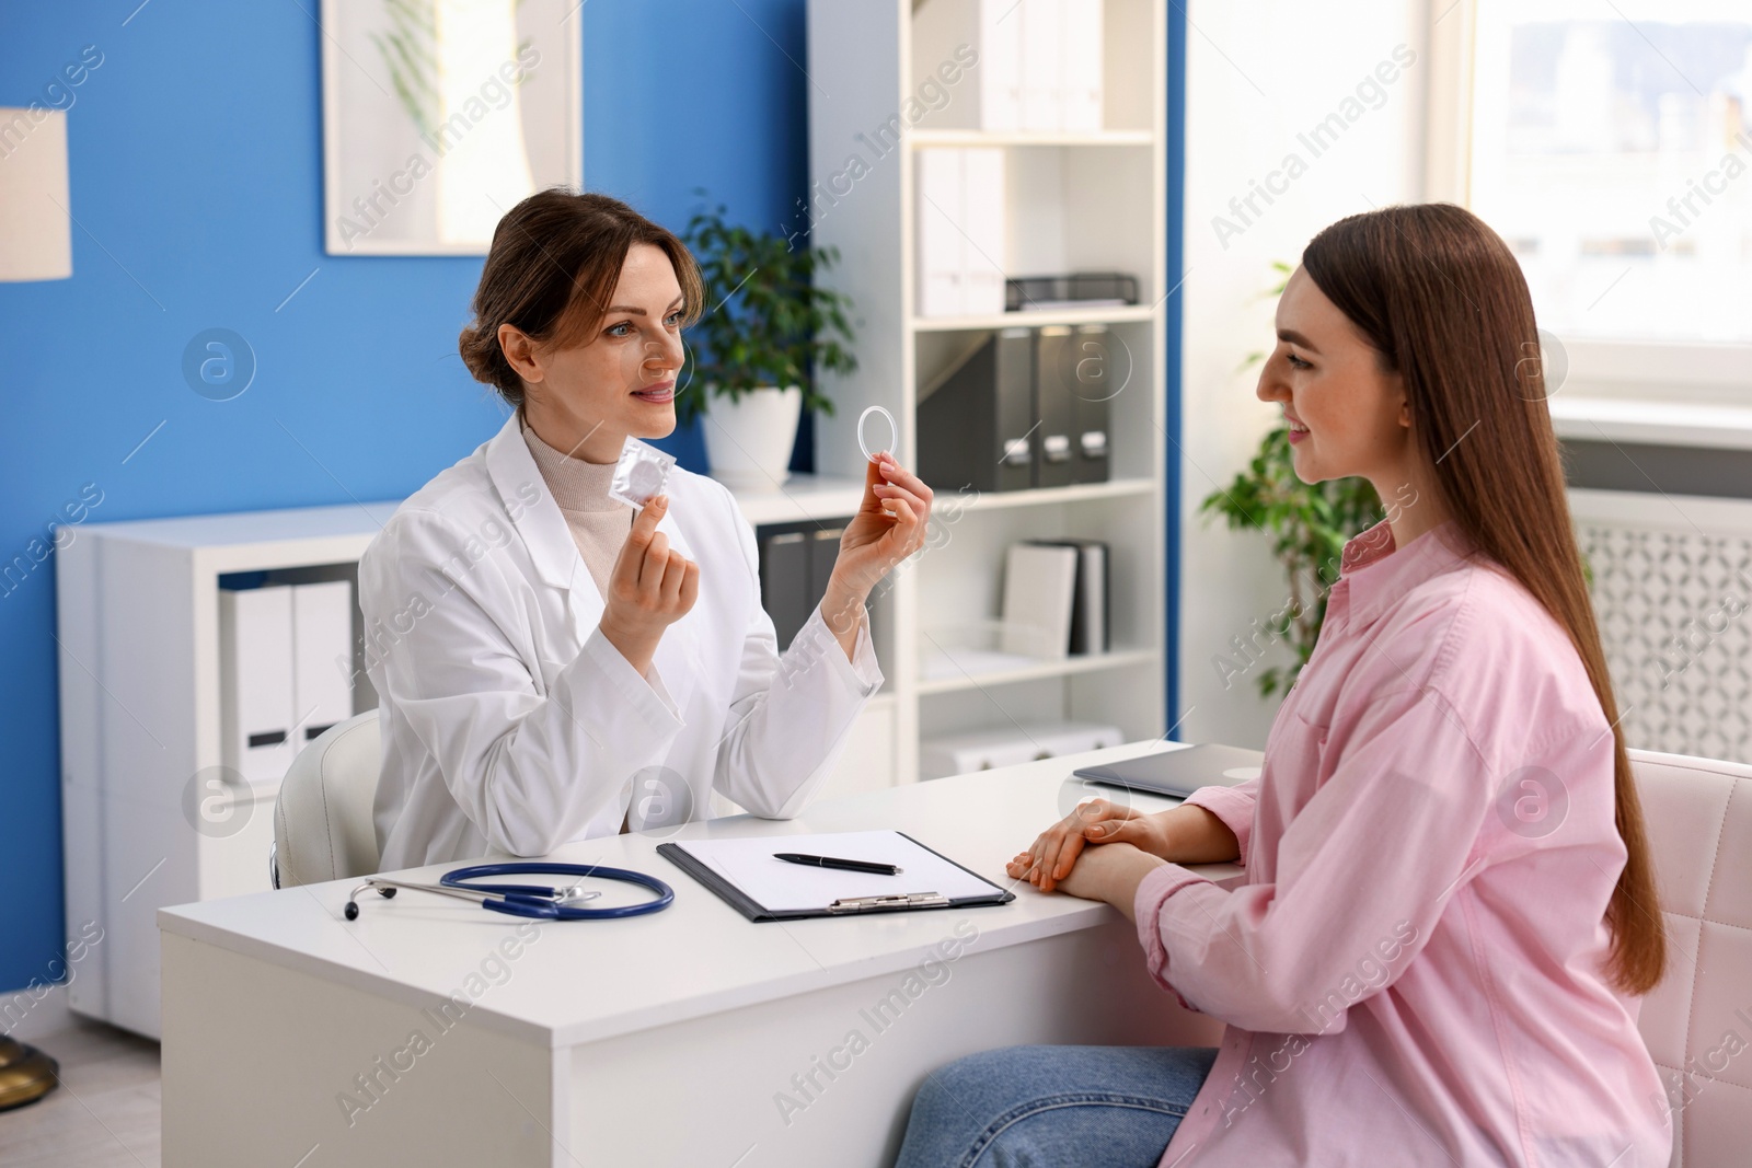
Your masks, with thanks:
M1600 972L1612 735L1563 629L1461 541L1346 545L1260 777L1188 800L1246 884L1137 890L1151 975L1228 1023L1160 1168L1668 1163L1640 998Z

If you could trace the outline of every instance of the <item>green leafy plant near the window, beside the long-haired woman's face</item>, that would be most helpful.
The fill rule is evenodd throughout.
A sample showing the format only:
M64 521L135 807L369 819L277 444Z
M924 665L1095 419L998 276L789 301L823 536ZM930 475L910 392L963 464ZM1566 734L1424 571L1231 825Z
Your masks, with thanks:
M1267 292L1279 296L1289 278L1289 264L1274 263L1277 285ZM1265 359L1249 354L1247 369ZM1296 478L1289 450L1289 429L1277 426L1260 440L1260 450L1247 469L1198 504L1205 517L1223 517L1230 531L1263 531L1272 536L1272 555L1289 581L1284 608L1267 620L1267 632L1289 643L1295 662L1274 665L1256 676L1261 697L1295 685L1314 653L1321 623L1326 620L1326 594L1339 578L1339 557L1356 532L1375 524L1381 499L1367 478L1337 478L1303 483Z

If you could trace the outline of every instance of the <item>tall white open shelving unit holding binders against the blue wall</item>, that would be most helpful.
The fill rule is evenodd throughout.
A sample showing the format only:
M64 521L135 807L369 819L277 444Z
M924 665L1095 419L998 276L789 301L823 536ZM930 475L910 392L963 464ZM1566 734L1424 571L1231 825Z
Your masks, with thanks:
M885 692L894 697L895 783L918 779L923 735L1025 730L1049 720L1114 723L1127 739L1167 728L1165 0L1104 0L1104 128L1070 133L983 131L978 65L955 82L936 72L976 35L978 7L978 0L809 0L808 74L820 82L809 86L811 242L839 249L841 261L823 282L848 292L862 320L858 371L823 378L836 412L816 417L816 466L829 475L857 473L864 462L857 419L871 405L894 413L897 457L916 466L920 389L995 329L1106 324L1128 371L1113 399L1111 482L979 496L932 483L932 527L943 531L885 581L876 601L883 608L878 653ZM922 105L929 84L948 100ZM1006 247L993 259L1006 273L1130 271L1141 303L916 315L915 159L929 147L1004 151ZM930 630L992 620L1004 548L1041 536L1109 543L1113 650L925 678Z

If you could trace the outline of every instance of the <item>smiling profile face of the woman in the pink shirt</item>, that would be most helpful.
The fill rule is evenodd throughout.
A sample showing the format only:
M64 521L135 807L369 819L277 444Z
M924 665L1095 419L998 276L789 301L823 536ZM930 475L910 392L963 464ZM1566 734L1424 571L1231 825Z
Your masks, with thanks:
M1277 347L1256 392L1282 406L1302 482L1361 475L1377 490L1409 482L1403 378L1381 368L1374 345L1302 268L1277 301Z

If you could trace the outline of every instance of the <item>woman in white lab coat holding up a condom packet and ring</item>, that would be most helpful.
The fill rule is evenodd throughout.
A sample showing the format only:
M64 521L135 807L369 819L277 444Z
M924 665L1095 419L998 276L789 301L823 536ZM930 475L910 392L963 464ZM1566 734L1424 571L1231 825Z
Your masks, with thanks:
M596 515L578 534L533 457L606 475L629 434L669 434L703 296L687 249L617 200L543 191L499 222L461 350L517 412L359 562L384 870L706 818L715 792L790 818L881 683L864 606L923 545L932 496L892 457L867 466L827 595L783 653L720 483L675 468L624 531Z

